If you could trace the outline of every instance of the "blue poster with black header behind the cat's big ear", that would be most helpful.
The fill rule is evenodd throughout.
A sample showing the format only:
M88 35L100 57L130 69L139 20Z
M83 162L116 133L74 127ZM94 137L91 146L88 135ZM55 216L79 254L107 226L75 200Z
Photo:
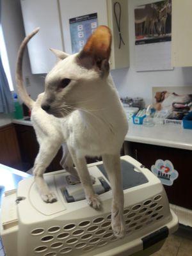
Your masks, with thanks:
M69 24L72 53L79 52L98 26L97 13L72 18Z

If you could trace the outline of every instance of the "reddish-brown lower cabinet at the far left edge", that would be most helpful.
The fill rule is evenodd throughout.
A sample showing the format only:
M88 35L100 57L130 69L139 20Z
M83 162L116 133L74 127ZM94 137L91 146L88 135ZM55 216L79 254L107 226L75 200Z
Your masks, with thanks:
M17 136L12 124L0 127L0 163L19 170L22 168Z

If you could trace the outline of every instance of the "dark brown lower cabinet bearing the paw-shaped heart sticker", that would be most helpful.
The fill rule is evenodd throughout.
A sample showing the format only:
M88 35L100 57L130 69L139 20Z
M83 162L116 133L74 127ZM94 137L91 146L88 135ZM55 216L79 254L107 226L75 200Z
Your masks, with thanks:
M164 186L171 204L192 209L190 198L192 191L191 175L191 150L179 148L160 147L143 143L125 142L125 148L129 153L149 170L157 159L170 160L179 177L174 180L172 186Z

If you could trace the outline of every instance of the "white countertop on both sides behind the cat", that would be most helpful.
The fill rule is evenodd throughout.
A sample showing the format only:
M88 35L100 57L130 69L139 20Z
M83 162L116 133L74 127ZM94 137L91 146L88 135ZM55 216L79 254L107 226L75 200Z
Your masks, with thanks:
M31 121L26 120L13 119L12 122L33 126ZM183 129L181 125L144 127L129 122L129 131L125 136L125 141L192 150L192 130Z

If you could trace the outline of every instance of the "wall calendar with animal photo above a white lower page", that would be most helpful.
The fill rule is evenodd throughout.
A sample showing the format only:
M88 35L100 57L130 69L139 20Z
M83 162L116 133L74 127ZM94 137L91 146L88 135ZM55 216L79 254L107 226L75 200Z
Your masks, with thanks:
M136 6L136 71L172 70L172 1Z

